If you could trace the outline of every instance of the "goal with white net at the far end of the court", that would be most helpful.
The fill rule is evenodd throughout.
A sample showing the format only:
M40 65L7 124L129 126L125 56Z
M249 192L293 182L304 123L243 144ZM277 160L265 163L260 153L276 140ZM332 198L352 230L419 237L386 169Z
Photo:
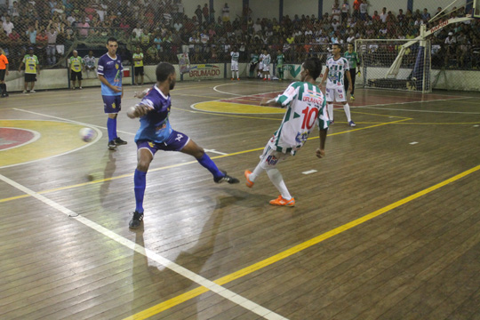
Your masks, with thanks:
M362 76L367 88L431 92L431 44L411 39L357 39ZM405 46L405 47L404 47Z

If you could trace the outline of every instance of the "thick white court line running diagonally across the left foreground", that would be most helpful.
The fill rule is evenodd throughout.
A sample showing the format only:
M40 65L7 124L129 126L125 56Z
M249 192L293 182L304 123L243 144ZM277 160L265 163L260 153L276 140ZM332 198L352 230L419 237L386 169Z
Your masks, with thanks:
M168 260L164 258L163 256L157 254L156 252L153 252L139 244L135 244L132 242L132 240L129 240L127 238L124 238L123 236L117 235L115 232L109 230L108 228L102 227L99 224L93 222L92 220L88 220L80 215L78 213L73 212L69 210L68 208L64 207L61 204L57 204L56 202L52 201L51 199L47 198L46 196L42 196L37 194L35 191L30 190L29 188L20 185L20 183L17 183L13 180L8 179L4 175L0 174L0 180L3 180L5 183L8 183L11 185L13 188L17 188L20 191L28 194L29 196L35 197L37 200L43 202L44 204L47 204L51 206L53 209L62 212L68 217L77 220L78 222L84 224L85 226L92 228L93 230L99 232L103 236L108 236L110 239L116 241L118 244L122 244L125 247L135 251L139 252L141 255L144 255L150 260L154 260L157 263L163 265L165 268L171 269L173 272L176 272L180 276L184 276L188 278L189 280L195 282L196 284L199 284L201 286L204 286L208 290L215 292L222 296L223 298L232 301L233 303L236 303L237 305L242 306L243 308L246 308L247 310L250 310L251 312L257 314L258 316L262 316L266 319L272 319L272 320L284 320L287 319L284 316L280 316L276 314L275 312L269 310L268 308L264 308L260 306L259 304L248 300L244 297L242 297L239 294L236 294L235 292L231 292L230 290L222 287L219 284L215 284L214 282L204 278L203 276L199 276L196 273L188 270L188 268L183 268L179 264Z

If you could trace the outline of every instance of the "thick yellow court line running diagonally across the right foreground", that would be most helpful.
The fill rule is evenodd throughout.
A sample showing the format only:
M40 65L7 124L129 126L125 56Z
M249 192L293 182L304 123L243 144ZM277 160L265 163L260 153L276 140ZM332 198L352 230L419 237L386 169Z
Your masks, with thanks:
M238 278L241 278L243 276L247 276L247 275L249 275L249 274L251 274L255 271L258 271L261 268L266 268L266 267L276 263L277 261L284 260L288 257L291 257L293 254L301 252L305 249L308 249L309 247L311 247L315 244L319 244L319 243L323 242L324 240L327 240L327 239L331 238L332 236L340 235L340 233L345 232L348 229L351 229L351 228L354 228L358 225L361 225L362 223L364 223L368 220L372 220L372 219L380 216L383 213L390 212L393 209L396 209L397 207L399 207L403 204L409 203L409 202L419 198L420 196L425 196L428 193L430 193L432 191L435 191L438 188L442 188L442 187L444 187L444 186L446 186L446 185L448 185L448 184L450 184L450 183L452 183L456 180L460 180L461 178L463 178L465 176L468 176L469 174L471 174L473 172L476 172L478 170L480 170L480 165L477 165L476 167L474 167L472 169L469 169L466 172L461 172L460 174L457 174L450 179L447 179L447 180L444 180L440 183L437 183L436 185L434 185L430 188L426 188L424 190L421 190L421 191L413 194L412 196L407 196L407 197L405 197L405 198L403 198L399 201L396 201L393 204L388 204L387 206L385 206L385 207L383 207L383 208L381 208L381 209L379 209L375 212L366 214L363 217L358 218L356 220L352 220L352 221L350 221L350 222L348 222L348 223L346 223L346 224L344 224L344 225L342 225L338 228L334 228L330 231L327 231L320 236L316 236L316 237L314 237L314 238L312 238L308 241L305 241L301 244L297 244L297 245L293 246L292 248L285 250L284 252L279 252L276 255L273 255L273 256L265 259L265 260L261 260L257 263L254 263L249 267L242 268L242 269L240 269L240 270L238 270L234 273L231 273L227 276L222 276L222 277L220 277L219 279L217 279L213 282L215 284L220 284L220 285L228 284L228 283L230 283L230 282L232 282L232 281L234 281ZM137 313L135 315L126 317L126 318L124 318L124 320L127 320L127 319L128 320L133 320L133 319L140 320L140 319L146 319L149 316L155 316L156 314L159 314L160 312L162 312L162 311L164 311L168 308L172 308L174 306L179 305L182 302L185 302L187 300L196 298L197 296L203 294L204 292L208 292L208 291L209 290L206 289L205 287L198 287L196 289L190 290L189 292L182 293L179 296L174 297L170 300L166 300L162 303L159 303L156 306L153 306L153 307L147 308L143 311L140 311L139 313Z

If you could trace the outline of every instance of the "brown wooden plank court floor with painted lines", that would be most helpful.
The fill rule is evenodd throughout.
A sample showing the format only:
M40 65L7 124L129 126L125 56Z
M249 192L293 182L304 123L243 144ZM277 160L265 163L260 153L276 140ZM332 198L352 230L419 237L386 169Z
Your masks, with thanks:
M177 84L173 128L241 183L159 152L139 231L138 120L121 112L128 145L108 151L100 88L0 100L0 127L40 135L0 151L0 318L480 319L480 94L357 89L356 128L337 108L324 159L315 134L279 165L297 205L278 208L266 174L243 175L282 115L241 103L286 85Z

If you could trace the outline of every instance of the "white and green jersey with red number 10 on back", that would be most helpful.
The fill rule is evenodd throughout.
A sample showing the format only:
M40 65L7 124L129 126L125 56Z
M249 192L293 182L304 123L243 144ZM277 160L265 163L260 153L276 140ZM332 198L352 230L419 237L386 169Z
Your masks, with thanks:
M294 82L276 97L276 102L287 108L280 128L269 142L276 151L295 155L316 124L328 129L324 93L316 85Z

